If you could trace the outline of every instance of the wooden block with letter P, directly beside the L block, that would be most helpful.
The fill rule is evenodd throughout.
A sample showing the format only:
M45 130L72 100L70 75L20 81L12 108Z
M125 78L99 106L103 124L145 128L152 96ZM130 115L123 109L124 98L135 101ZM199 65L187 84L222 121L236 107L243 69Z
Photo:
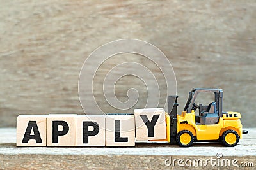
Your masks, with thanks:
M105 115L77 115L76 146L105 146Z

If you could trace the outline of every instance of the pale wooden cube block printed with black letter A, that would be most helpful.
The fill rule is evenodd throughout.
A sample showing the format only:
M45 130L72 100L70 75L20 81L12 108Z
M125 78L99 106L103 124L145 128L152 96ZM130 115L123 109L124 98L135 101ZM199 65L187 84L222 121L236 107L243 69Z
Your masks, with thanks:
M46 146L47 115L17 117L17 146Z

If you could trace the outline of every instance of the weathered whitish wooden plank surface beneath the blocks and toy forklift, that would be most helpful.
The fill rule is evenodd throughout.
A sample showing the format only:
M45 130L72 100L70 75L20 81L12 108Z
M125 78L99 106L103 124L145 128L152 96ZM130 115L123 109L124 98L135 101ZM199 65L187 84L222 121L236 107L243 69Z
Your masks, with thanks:
M168 143L136 143L135 147L16 147L16 129L0 129L0 169L61 167L70 169L176 169L165 166L166 159L237 159L238 162L256 163L256 128L248 129L239 144L227 148L218 143L195 143L180 148ZM256 166L256 165L255 165ZM178 166L180 167L180 166ZM207 169L213 166L207 165ZM187 167L180 167L185 169ZM194 167L195 168L195 167ZM222 167L219 167L220 169ZM234 169L234 166L225 169ZM253 169L253 167L247 167Z

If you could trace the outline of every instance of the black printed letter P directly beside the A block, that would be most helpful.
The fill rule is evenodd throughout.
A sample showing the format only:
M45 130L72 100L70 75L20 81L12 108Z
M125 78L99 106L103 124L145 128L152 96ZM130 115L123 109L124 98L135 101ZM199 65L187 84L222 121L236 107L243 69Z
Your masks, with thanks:
M63 130L58 131L58 126L62 125ZM59 143L59 136L67 134L69 126L65 121L52 121L52 143Z

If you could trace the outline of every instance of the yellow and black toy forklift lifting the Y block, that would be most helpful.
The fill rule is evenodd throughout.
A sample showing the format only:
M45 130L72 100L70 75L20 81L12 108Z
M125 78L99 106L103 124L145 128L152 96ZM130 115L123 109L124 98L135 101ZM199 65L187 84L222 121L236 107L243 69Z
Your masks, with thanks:
M199 93L214 93L214 101L207 106L196 104ZM193 142L217 141L225 146L237 145L242 134L241 114L223 112L221 89L194 88L189 92L188 101L181 115L177 115L178 96L168 96L168 114L166 114L167 141L180 146L191 146ZM199 115L195 115L196 109Z

